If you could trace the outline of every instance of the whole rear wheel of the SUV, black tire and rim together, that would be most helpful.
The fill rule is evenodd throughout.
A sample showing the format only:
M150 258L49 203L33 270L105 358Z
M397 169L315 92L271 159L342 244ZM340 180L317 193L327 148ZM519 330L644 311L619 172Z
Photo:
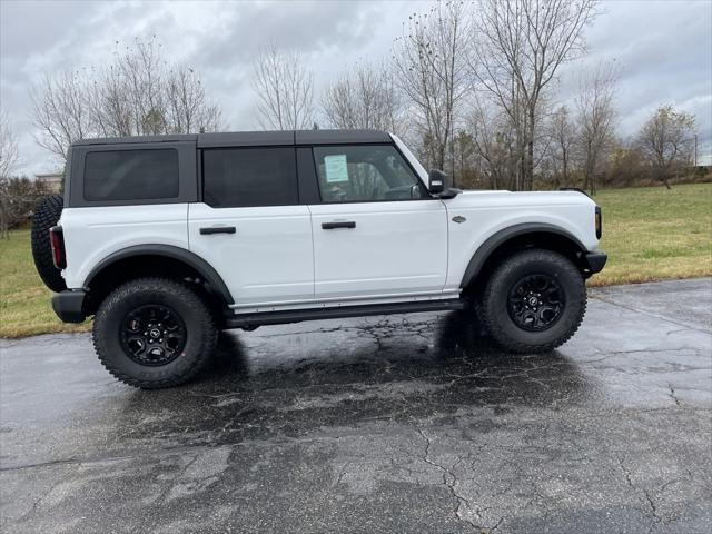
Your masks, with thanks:
M99 360L119 380L145 389L192 378L215 352L217 338L205 301L185 285L161 278L120 286L93 323Z

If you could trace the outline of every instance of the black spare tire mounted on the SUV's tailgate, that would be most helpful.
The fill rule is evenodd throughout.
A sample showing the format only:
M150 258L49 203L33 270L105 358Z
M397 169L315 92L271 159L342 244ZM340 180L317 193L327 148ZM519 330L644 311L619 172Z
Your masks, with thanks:
M49 241L49 229L57 226L62 215L63 199L61 195L47 197L32 216L32 258L42 281L52 291L67 289L61 271L55 267L52 246Z

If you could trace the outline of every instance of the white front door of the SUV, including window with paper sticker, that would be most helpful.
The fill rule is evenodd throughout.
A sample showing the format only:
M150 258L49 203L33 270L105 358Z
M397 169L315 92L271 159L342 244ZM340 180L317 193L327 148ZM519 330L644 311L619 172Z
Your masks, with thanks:
M447 212L390 145L314 147L322 202L310 205L319 300L437 297L447 276Z

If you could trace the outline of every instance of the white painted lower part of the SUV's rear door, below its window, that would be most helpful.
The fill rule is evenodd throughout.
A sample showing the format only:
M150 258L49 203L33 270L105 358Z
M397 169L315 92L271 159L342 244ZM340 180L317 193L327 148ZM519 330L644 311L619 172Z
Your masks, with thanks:
M200 235L234 226L236 234ZM236 307L314 300L312 221L306 206L211 208L191 204L189 248L222 277Z

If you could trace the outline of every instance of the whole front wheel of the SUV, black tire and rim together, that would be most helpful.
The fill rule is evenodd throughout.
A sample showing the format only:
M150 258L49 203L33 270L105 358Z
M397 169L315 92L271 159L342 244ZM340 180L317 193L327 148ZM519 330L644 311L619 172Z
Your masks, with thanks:
M514 353L543 353L574 335L586 312L576 266L552 250L528 249L502 261L479 304L492 337Z

